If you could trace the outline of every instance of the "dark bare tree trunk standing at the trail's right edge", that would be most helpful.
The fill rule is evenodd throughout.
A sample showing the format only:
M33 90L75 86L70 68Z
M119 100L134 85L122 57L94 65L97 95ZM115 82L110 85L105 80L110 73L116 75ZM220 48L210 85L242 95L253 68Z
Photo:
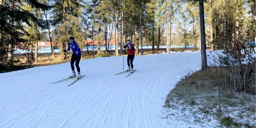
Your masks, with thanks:
M205 28L204 28L204 0L199 0L199 15L200 15L200 35L201 35L201 68L207 68L206 59L206 41L205 41Z

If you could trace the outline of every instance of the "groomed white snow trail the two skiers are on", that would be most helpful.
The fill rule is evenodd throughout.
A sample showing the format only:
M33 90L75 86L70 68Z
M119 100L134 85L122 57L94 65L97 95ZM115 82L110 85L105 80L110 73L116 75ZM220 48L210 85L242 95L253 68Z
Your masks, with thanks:
M0 128L171 128L159 116L165 98L200 62L200 52L137 55L137 71L125 78L113 75L122 56L82 60L86 76L71 86L49 84L71 75L70 63L1 73Z

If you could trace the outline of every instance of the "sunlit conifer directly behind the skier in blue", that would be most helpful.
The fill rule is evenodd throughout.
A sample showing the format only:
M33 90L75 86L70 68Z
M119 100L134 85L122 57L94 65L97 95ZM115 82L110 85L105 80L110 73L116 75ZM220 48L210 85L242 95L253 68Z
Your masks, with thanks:
M54 17L58 23L56 24L56 35L58 46L61 47L61 51L66 49L68 39L70 36L75 38L75 41L82 48L84 45L84 35L81 32L81 13L84 9L84 1L82 0L56 0L53 12ZM66 58L66 54L62 52L63 59Z

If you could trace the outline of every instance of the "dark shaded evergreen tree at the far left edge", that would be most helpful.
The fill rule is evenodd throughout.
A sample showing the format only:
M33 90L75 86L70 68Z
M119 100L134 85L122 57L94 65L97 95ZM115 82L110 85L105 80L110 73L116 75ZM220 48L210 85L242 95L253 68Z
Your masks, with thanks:
M23 3L22 3L23 2ZM17 42L26 42L24 35L29 33L24 29L24 23L27 26L37 25L42 29L45 28L45 21L38 19L34 14L23 9L21 5L30 5L35 9L47 10L52 6L46 6L35 0L2 0L0 4L0 61L8 51L8 61L12 62L12 53L14 45ZM4 47L5 46L5 47ZM8 47L6 47L8 46Z

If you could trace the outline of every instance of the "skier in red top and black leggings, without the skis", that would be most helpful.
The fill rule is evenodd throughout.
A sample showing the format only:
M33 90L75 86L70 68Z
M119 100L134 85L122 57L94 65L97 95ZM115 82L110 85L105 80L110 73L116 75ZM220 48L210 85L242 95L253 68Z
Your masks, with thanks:
M127 56L127 64L128 64L128 69L127 71L130 71L133 72L133 64L132 64L132 61L134 60L134 45L131 43L130 40L127 41L127 44L123 44L124 46L124 49L127 47L127 51L128 51L128 56ZM130 68L130 63L131 63L131 68Z

